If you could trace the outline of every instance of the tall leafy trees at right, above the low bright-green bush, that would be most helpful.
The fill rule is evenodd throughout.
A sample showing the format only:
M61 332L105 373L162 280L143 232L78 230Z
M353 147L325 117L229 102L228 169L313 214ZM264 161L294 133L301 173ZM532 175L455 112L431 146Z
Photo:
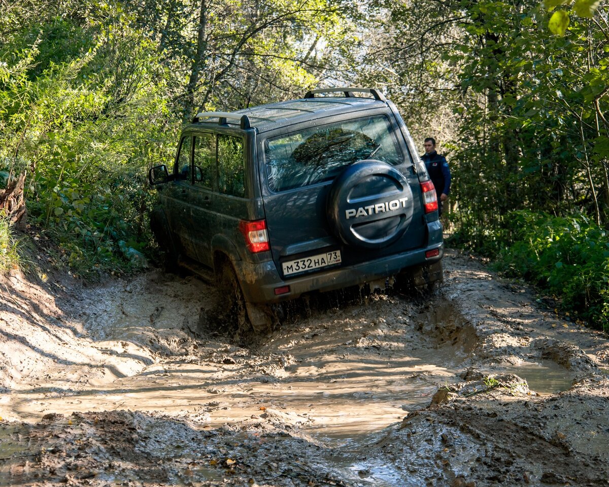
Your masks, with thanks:
M469 103L454 105L456 241L495 254L505 215L524 209L581 211L609 225L605 32L574 19L568 38L548 37L540 14L495 1L468 13L476 22L448 57L469 93Z

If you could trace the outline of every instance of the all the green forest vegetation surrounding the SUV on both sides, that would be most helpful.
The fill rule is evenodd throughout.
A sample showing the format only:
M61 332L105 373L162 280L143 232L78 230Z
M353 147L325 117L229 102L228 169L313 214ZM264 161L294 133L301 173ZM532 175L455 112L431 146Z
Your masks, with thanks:
M146 172L171 161L196 111L370 86L418 144L434 136L448 156L449 244L609 330L607 2L0 7L0 180L25 175L27 225L73 273L130 272L153 256ZM11 216L2 268L18 262Z

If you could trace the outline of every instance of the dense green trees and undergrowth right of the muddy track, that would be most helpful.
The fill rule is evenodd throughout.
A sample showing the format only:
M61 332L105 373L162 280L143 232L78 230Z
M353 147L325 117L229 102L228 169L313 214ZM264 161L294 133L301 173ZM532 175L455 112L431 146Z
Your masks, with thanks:
M605 245L609 227L606 5L381 3L391 9L387 30L399 32L376 51L395 69L385 79L403 86L397 101L416 139L436 136L449 151L452 244L499 256L507 271L549 289L565 310L607 326L605 250L577 260L585 245ZM549 21L564 35L549 35ZM540 211L553 216L522 220ZM582 215L580 230L568 231L573 214ZM565 235L551 240L552 251L575 239L568 261L534 240L553 225Z

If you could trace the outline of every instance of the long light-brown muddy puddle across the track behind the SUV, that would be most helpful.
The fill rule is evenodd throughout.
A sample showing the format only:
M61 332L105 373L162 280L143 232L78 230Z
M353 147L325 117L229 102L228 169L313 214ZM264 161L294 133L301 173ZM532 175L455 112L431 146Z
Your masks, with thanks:
M264 408L278 408L298 415L295 421L309 425L311 433L359 435L400 421L405 410L428 403L438 385L456 380L458 369L451 347L372 357L295 356L299 363L276 369L268 360L256 367L247 363L256 357L236 359L224 364L205 356L174 357L130 377L91 380L83 391L42 387L14 393L13 406L23 419L49 412L128 409L195 416L209 426L247 421Z

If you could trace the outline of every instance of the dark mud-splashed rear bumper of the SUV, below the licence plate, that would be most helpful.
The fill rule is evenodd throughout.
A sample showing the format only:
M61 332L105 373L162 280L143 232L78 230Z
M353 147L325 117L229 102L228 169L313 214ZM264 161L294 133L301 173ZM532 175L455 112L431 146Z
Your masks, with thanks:
M429 259L425 257L427 251L435 249L440 251L440 255ZM444 244L440 242L362 264L326 269L287 280L280 277L273 261L259 264L239 261L234 264L238 275L244 276L241 287L245 300L250 303L278 303L311 291L331 291L377 281L406 268L434 264L442 259L443 254ZM275 295L275 289L284 286L289 286L289 292Z

